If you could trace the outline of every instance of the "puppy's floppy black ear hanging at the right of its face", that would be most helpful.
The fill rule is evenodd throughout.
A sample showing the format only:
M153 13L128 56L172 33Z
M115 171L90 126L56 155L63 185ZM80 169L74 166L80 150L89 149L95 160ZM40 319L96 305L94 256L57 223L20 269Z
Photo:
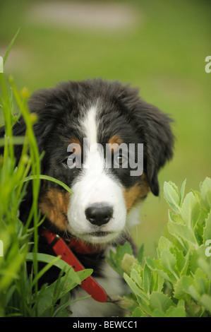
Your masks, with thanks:
M170 119L157 107L144 103L146 172L152 194L158 196L159 183L157 174L160 167L173 155L174 135L171 132Z

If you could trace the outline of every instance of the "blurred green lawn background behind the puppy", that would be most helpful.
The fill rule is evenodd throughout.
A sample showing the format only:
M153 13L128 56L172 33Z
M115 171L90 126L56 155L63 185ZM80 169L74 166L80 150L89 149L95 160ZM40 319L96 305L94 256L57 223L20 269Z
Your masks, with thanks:
M133 230L146 255L155 255L167 223L164 181L180 187L187 179L188 191L210 176L210 9L208 0L0 0L2 57L20 27L4 67L18 89L118 79L174 118L174 159L159 173L159 198L148 196Z

